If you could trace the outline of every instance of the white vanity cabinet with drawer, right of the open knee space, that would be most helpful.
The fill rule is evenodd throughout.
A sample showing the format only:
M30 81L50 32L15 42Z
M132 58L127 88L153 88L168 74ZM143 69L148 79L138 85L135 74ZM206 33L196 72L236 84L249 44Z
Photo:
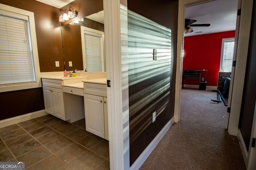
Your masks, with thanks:
M84 83L84 112L86 130L108 140L106 84Z

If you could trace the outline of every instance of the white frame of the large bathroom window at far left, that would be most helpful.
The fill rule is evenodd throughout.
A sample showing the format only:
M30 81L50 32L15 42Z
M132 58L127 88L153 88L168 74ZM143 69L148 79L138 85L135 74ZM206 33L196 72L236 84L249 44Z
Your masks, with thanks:
M40 77L40 65L39 65L39 58L38 58L38 48L37 48L37 40L36 40L36 26L35 26L35 19L34 19L34 12L22 10L19 8L15 8L12 6L0 4L0 9L13 12L17 14L21 14L24 16L28 16L29 22L29 31L31 36L31 46L32 46L32 57L34 62L34 72L35 72L35 83L24 83L24 84L8 84L4 86L0 86L0 93L6 91L16 91L16 90L23 90L23 89L32 89L42 87L41 77Z

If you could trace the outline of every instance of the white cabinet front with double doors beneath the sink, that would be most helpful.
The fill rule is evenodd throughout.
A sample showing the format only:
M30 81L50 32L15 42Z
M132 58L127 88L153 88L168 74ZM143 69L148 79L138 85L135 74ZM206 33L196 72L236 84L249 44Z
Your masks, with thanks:
M42 79L46 113L66 121L62 81Z

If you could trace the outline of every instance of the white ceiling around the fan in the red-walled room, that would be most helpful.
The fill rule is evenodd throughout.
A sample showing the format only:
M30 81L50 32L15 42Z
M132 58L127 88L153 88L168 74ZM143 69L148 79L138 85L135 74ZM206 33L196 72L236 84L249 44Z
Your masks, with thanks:
M185 8L185 18L197 20L193 24L211 24L209 27L191 27L184 36L198 36L236 30L238 0L215 0ZM200 33L196 33L200 32Z

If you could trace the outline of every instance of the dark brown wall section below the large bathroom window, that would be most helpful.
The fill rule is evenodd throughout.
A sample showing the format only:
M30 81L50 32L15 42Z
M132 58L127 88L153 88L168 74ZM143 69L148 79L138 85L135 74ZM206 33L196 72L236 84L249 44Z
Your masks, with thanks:
M0 120L44 110L42 87L0 93Z

